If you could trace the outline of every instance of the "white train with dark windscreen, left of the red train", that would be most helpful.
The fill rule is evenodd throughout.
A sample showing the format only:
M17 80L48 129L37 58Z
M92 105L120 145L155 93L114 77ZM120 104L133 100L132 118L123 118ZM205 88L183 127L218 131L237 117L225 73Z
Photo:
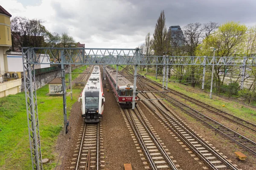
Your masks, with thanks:
M98 123L104 110L104 94L99 66L94 66L93 72L81 92L82 117L85 123Z

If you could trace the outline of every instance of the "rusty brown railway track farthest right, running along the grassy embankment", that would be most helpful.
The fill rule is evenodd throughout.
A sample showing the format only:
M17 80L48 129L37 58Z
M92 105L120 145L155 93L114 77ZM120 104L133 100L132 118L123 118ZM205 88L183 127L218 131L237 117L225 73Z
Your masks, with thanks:
M155 85L157 85L157 86L162 88L162 86L160 84L158 84L158 83L156 83L154 81L151 81L148 78L144 78L144 79L147 80L147 81L150 81L152 84L155 84ZM176 91L174 89L170 89L170 88L168 88L168 89L170 90L170 93L172 93L172 94L174 94L176 96L179 96L180 98L186 99L187 101L190 101L190 102L196 104L199 107L207 109L208 112L214 113L216 115L220 115L220 116L226 118L229 121L233 121L233 122L235 122L237 124L240 124L243 127L246 127L248 129L256 132L256 124L253 124L253 123L251 123L249 121L241 119L241 118L239 118L237 116L234 116L234 115L232 115L232 114L230 114L228 112L225 112L225 111L223 111L221 109L212 107L209 104L206 104L204 102L198 101L195 98L191 98L191 97L189 97L187 95L184 95L183 93L180 93L180 92L178 92L178 91Z

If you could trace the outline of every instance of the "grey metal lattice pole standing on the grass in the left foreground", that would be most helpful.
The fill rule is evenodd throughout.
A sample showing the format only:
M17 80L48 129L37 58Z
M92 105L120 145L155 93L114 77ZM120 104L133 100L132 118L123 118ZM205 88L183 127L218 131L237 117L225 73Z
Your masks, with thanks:
M23 76L32 170L43 170L36 97L35 69L34 65L31 64L33 55L34 51L32 49L29 48L26 50L26 52L24 52L22 49Z

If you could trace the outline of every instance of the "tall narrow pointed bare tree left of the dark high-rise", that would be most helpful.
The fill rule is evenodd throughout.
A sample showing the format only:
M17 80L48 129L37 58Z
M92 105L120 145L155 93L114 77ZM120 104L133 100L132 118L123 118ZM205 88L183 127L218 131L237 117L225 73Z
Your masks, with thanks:
M165 25L164 11L161 11L154 30L153 49L155 55L163 55L166 43L167 29Z

